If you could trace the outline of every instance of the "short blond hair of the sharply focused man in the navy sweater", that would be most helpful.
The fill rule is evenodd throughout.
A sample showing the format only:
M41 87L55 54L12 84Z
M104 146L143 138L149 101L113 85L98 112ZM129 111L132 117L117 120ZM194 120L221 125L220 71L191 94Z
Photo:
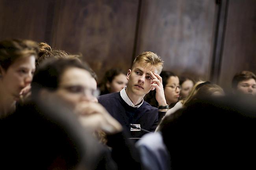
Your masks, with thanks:
M161 57L151 51L145 51L142 54L139 54L135 58L133 65L139 62L146 63L146 67L147 65L152 65L156 67L156 69L158 70L158 74L160 74L163 69L163 60L161 59Z

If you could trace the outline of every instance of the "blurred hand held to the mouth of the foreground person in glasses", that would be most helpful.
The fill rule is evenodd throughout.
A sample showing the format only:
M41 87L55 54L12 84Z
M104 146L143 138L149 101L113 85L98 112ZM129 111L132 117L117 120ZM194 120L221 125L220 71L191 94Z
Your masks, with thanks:
M106 134L115 134L122 131L121 124L99 103L80 103L76 106L75 113L78 114L80 123L92 132L102 130Z

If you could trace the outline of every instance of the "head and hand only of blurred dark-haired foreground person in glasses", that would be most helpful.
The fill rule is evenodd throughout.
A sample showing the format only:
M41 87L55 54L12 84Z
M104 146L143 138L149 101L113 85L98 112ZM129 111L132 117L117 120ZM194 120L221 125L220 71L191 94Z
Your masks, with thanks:
M91 132L103 130L111 134L121 131L121 125L96 103L96 80L89 71L88 65L76 59L48 60L35 72L32 96L43 100L58 96Z

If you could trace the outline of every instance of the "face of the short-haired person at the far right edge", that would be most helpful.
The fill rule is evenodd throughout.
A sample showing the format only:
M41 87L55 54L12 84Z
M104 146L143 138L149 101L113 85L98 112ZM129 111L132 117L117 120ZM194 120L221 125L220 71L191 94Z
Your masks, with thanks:
M240 94L256 95L256 81L253 78L239 81L236 91Z

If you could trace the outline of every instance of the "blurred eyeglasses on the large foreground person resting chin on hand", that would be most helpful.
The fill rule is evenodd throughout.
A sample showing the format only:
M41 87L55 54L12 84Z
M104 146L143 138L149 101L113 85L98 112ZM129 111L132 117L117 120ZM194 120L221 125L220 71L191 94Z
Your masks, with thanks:
M99 89L96 89L96 90L89 89L89 88L83 87L81 85L62 86L59 88L63 88L72 94L82 94L84 96L94 96L95 98L100 95Z

